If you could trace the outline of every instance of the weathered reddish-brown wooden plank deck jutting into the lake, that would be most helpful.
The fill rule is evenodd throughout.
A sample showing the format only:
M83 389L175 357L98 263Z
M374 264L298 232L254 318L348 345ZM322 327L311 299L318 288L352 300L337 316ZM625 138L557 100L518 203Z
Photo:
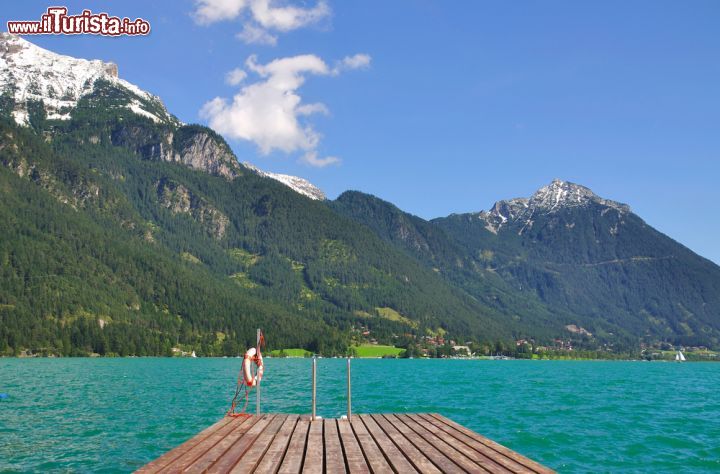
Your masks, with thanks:
M553 472L437 414L223 418L138 472Z

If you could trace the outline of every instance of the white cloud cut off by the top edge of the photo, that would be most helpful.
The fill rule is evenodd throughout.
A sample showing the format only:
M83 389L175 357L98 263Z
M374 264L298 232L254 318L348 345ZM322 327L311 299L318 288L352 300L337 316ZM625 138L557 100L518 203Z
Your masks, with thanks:
M279 5L277 0L196 0L193 17L201 25L241 19L243 29L237 37L246 43L277 43L271 31L287 32L302 28L330 15L325 0L313 7Z

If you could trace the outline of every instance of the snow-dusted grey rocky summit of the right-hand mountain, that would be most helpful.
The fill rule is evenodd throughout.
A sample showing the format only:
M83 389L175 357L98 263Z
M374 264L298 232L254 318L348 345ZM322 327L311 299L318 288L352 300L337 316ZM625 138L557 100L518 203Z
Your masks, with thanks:
M477 213L477 217L482 219L485 228L494 234L509 222L522 222L523 225L518 231L518 234L522 234L532 228L533 217L539 213L550 214L591 203L605 207L602 211L603 215L610 209L615 209L620 214L630 212L630 206L627 204L601 198L585 186L554 179L552 183L538 189L530 198L498 201L489 211Z

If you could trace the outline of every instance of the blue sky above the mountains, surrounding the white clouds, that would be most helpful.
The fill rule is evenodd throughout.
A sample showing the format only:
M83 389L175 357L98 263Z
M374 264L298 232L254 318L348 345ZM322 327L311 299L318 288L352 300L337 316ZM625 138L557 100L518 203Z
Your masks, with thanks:
M267 0L206 2L232 9ZM0 19L36 19L47 6L7 3ZM292 24L250 6L232 18L208 18L217 8L203 17L193 1L67 6L143 17L153 31L30 40L118 63L121 77L181 120L215 117L241 161L306 177L331 198L357 189L432 218L528 196L558 177L630 204L720 262L717 1L330 1ZM247 43L241 31L276 44ZM342 63L358 54L367 61ZM269 66L299 55L322 64L308 72L303 61L290 73ZM247 77L230 85L236 68ZM296 109L300 129L289 135L233 128L230 119L246 112L231 106L233 96L273 79L297 80L290 99L324 111ZM252 108L264 91L244 103ZM201 114L216 97L224 108ZM339 162L312 166L308 152L315 165Z

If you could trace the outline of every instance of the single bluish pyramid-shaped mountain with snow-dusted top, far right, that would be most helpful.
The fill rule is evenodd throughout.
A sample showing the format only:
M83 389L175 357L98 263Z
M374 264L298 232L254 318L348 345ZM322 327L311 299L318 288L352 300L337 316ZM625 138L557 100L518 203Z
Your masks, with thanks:
M720 340L720 267L588 188L555 180L529 199L433 223L508 283L587 318L595 334Z

